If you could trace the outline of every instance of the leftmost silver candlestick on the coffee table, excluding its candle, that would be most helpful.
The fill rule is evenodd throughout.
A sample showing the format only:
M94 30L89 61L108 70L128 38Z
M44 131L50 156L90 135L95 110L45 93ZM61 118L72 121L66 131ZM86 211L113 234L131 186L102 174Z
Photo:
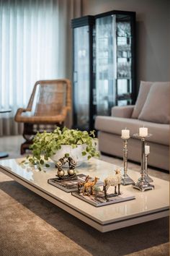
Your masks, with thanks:
M128 176L127 172L128 172L128 139L123 139L123 164L124 164L124 174L122 175L122 182L121 184L126 186L126 185L130 185L130 184L135 184L135 182L133 181L133 179L130 178L130 176Z

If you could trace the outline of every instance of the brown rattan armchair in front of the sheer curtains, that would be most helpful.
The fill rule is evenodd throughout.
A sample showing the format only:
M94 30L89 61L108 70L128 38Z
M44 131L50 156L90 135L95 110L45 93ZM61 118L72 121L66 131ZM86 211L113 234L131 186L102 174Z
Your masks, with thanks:
M21 154L30 147L37 132L44 125L63 127L68 111L71 110L71 82L67 79L41 80L35 83L27 108L18 108L14 120L24 123Z

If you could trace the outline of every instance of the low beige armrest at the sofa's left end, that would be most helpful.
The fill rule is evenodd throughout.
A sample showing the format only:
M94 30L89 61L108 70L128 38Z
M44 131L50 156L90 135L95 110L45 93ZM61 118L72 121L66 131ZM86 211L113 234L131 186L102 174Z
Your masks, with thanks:
M114 106L112 107L111 116L130 118L133 114L134 106L135 105Z

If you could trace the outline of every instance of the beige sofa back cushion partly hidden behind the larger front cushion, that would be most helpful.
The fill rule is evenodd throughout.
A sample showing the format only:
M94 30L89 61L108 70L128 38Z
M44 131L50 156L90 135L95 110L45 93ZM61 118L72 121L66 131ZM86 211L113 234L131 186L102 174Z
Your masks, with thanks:
M146 98L148 96L148 92L151 89L152 84L153 82L140 81L138 98L136 100L135 107L133 109L132 118L138 118L140 111L142 110L143 105L146 102Z

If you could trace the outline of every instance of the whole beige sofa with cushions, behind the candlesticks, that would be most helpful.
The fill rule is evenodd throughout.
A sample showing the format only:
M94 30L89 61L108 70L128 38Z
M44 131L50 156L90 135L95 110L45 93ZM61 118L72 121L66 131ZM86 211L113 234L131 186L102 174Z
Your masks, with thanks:
M152 134L147 137L151 148L148 164L169 171L169 98L169 82L140 82L135 106L115 106L111 116L97 116L99 150L122 157L121 130L126 127L130 129L128 159L140 163L141 143L133 135L139 127L148 127Z

